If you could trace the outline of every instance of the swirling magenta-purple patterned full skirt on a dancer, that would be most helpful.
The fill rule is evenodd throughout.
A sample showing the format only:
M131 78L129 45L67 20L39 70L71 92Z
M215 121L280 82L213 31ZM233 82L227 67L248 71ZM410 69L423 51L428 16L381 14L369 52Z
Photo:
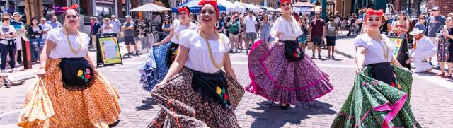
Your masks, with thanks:
M333 90L328 75L309 57L299 62L285 59L283 42L272 47L255 42L248 56L248 69L251 84L246 91L275 102L310 102Z

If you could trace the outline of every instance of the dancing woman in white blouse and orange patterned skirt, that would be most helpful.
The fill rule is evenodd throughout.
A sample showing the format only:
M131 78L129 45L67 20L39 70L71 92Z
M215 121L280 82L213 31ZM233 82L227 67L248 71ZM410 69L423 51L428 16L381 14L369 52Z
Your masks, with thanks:
M35 85L19 116L21 127L108 127L120 115L119 95L88 56L77 6L64 7L64 25L50 30Z

